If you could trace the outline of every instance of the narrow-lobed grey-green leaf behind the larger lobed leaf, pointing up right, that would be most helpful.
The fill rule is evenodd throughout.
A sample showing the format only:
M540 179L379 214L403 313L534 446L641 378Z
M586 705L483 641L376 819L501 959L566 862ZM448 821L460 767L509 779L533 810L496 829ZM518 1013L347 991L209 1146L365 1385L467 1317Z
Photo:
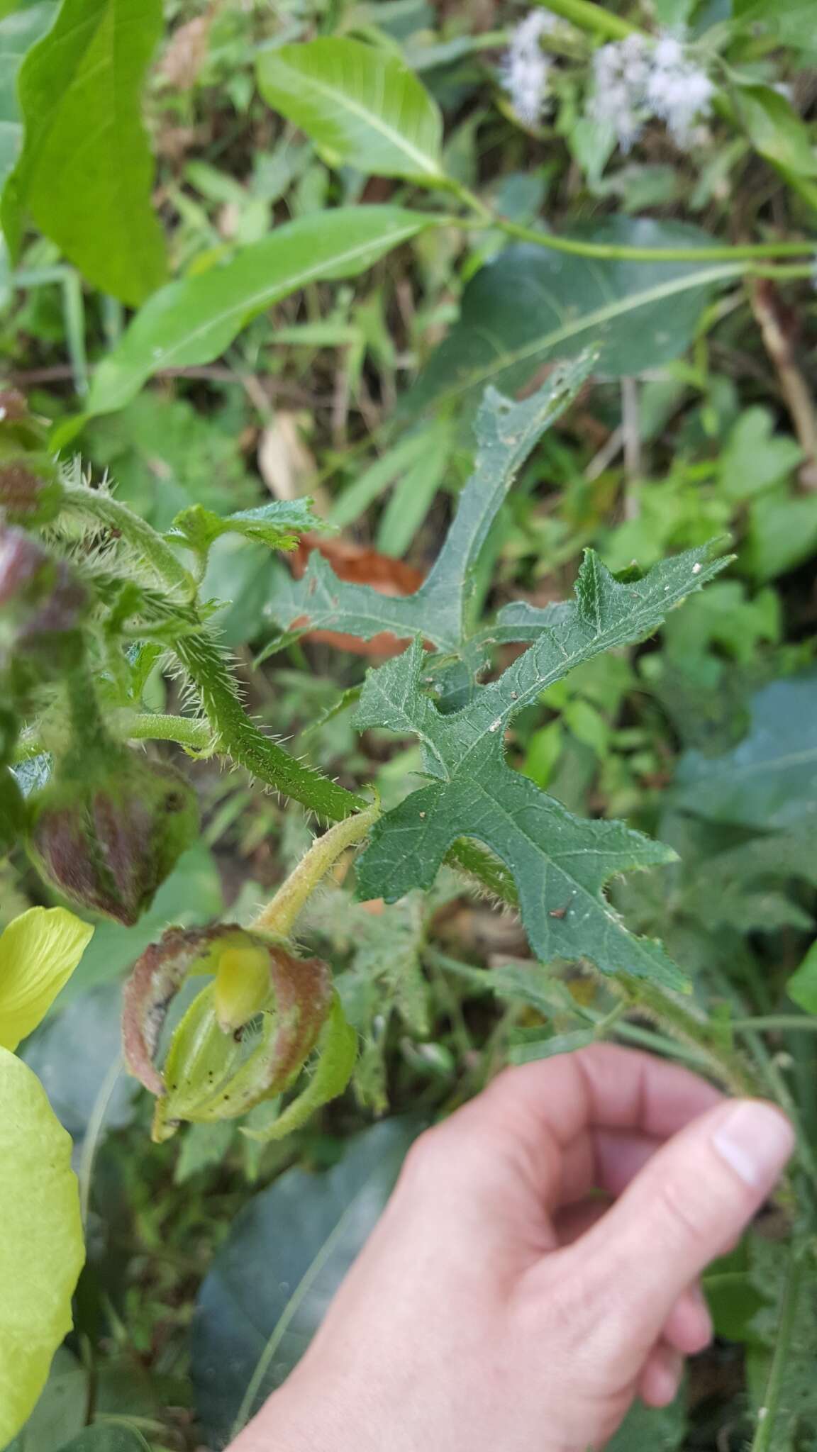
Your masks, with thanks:
M442 550L413 595L381 595L368 585L340 581L317 550L302 579L282 574L266 617L282 630L342 630L372 636L388 630L400 639L422 635L442 652L461 652L468 639L475 566L497 510L528 454L568 407L590 373L593 354L554 369L544 388L522 404L494 389L480 408L477 460L462 489L456 518Z

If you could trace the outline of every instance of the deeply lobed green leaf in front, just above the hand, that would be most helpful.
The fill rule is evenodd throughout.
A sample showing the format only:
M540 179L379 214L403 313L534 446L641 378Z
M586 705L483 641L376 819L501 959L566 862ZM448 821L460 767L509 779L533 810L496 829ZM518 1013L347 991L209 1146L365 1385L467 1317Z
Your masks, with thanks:
M605 973L679 986L682 976L660 944L632 937L602 894L616 873L670 861L675 852L621 822L574 817L506 765L503 743L507 725L548 685L602 650L644 639L717 574L724 562L708 555L688 550L625 584L587 552L576 601L462 710L443 716L423 694L419 639L369 672L358 726L419 736L433 783L375 823L358 862L361 894L394 902L411 887L427 889L451 844L477 838L510 870L538 957L586 957Z

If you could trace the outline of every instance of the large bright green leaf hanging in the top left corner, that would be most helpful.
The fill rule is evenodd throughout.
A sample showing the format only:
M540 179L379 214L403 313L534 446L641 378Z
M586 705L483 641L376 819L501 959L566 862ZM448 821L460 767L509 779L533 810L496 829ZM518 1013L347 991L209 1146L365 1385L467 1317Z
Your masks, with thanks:
M19 76L23 154L3 196L16 253L26 215L80 272L140 303L166 274L141 91L161 0L64 0Z

